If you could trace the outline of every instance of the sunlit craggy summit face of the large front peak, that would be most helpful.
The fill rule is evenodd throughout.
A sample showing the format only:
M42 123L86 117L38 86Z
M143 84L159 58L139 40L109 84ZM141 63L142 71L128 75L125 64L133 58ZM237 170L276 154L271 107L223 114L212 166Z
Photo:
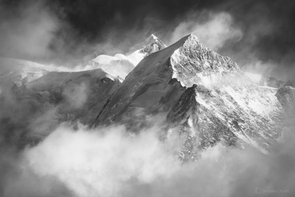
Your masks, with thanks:
M207 48L197 36L184 37L182 45L171 56L173 78L181 85L191 87L194 83L208 84L223 74L240 72L229 57L222 57Z

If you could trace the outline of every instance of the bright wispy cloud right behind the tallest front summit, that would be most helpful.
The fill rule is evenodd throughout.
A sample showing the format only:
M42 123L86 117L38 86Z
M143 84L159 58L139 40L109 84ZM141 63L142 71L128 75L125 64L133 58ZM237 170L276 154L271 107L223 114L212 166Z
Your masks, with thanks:
M234 27L234 21L229 13L203 12L190 13L172 33L171 40L177 41L180 37L193 33L207 47L217 50L229 40L239 40L243 33Z

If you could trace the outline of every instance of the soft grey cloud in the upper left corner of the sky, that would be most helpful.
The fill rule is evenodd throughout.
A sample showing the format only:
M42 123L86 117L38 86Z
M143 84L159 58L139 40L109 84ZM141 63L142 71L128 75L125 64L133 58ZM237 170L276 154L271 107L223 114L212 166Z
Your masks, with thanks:
M0 4L0 55L34 59L50 55L59 21L44 1L23 1L13 9Z

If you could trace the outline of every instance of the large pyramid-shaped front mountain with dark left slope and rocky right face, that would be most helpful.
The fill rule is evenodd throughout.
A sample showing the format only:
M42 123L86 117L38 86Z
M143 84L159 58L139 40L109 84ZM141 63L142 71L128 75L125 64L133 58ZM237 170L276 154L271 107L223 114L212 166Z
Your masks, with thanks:
M280 135L283 108L276 92L253 83L229 57L190 34L143 59L92 127L120 123L138 131L150 116L161 114L166 137L180 136L184 160L219 141L266 153Z

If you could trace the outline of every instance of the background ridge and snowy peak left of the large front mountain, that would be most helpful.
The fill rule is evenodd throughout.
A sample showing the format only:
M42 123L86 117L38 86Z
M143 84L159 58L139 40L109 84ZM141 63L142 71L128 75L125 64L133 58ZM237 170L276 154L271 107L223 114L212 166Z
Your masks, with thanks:
M152 35L128 56L101 55L93 60L100 64L95 69L77 72L0 58L0 129L5 141L37 143L61 122L90 125L123 80L96 67L127 75L141 59L165 47Z

